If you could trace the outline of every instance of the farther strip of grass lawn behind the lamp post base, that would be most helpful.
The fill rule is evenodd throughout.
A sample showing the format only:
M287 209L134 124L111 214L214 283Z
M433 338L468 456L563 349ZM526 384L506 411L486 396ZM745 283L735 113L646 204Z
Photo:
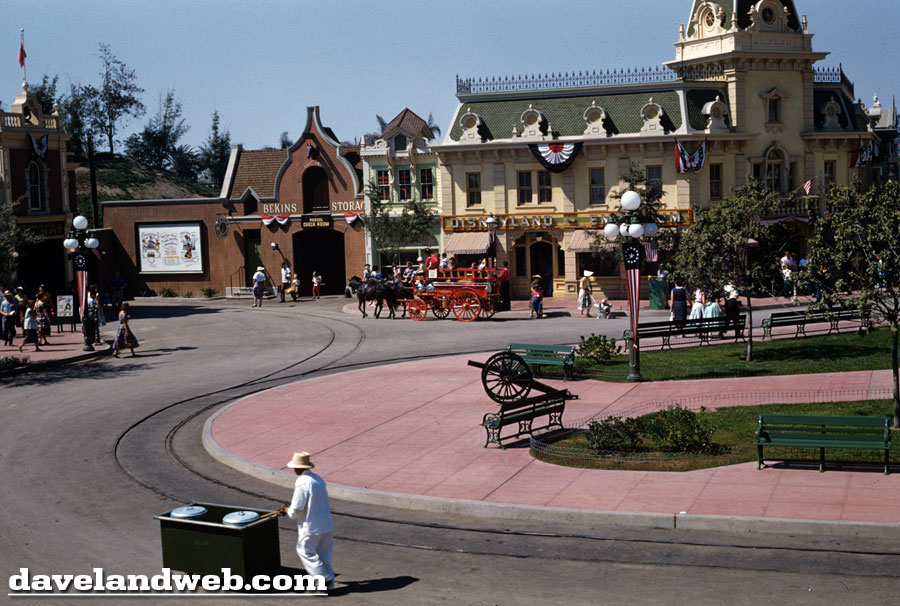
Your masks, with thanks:
M867 335L754 341L752 362L744 361L746 354L745 343L642 351L641 374L648 381L659 381L880 370L891 367L891 333L881 328ZM621 382L628 375L628 356L616 356L606 364L577 358L575 372L582 378Z

